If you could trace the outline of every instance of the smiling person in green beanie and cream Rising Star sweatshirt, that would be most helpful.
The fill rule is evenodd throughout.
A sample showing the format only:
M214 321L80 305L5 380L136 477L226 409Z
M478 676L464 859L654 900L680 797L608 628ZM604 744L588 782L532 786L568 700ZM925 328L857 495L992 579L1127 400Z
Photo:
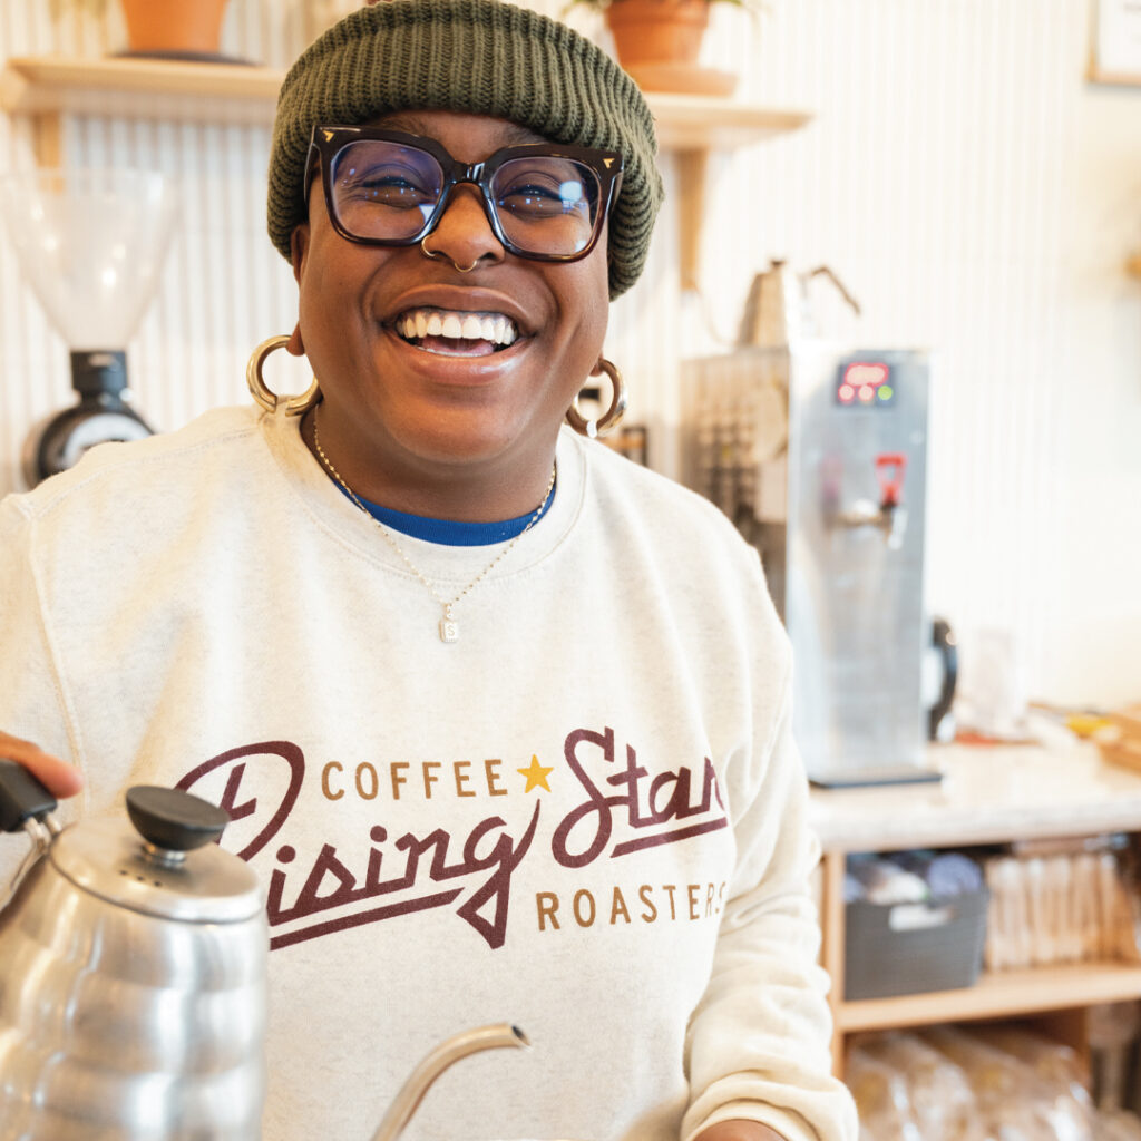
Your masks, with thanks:
M266 390L278 339L272 411L0 507L6 751L88 810L220 802L266 883L272 1141L369 1138L420 1054L505 1019L533 1049L448 1071L408 1135L855 1136L755 552L560 427L621 383L654 149L555 22L353 14L269 171L316 388Z

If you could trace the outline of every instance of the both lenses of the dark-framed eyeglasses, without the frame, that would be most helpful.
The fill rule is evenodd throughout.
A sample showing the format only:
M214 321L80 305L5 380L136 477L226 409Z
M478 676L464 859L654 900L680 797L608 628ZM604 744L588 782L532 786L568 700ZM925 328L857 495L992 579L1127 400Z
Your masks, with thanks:
M332 176L341 226L354 237L389 242L421 235L445 183L434 155L387 139L346 144L333 157ZM486 194L503 235L521 252L574 254L594 232L598 176L576 160L509 159L492 172Z

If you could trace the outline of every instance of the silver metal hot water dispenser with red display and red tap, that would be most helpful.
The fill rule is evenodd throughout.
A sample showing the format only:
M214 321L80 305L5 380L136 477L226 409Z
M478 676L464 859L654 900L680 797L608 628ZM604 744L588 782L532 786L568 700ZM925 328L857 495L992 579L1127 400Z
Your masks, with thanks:
M683 377L683 478L761 551L810 779L938 779L923 693L928 354L803 341L689 362Z

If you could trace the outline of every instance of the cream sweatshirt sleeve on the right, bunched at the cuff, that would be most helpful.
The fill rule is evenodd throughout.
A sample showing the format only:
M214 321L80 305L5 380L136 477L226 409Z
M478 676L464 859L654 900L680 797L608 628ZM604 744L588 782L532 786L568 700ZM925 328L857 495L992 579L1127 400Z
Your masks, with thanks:
M744 787L733 782L729 791L737 865L709 986L687 1036L691 1093L682 1141L730 1118L762 1122L787 1141L855 1141L858 1133L852 1099L831 1076L828 978L818 965L809 890L819 845L792 739L783 647L775 725L758 742L759 756L741 766L758 776Z

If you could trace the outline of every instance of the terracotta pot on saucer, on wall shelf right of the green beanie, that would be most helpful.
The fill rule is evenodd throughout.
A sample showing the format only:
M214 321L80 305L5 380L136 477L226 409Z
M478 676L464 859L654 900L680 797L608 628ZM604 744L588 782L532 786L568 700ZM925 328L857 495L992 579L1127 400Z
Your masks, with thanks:
M648 91L729 95L736 76L697 63L717 0L574 0L602 11L618 63ZM744 7L745 0L723 0Z

